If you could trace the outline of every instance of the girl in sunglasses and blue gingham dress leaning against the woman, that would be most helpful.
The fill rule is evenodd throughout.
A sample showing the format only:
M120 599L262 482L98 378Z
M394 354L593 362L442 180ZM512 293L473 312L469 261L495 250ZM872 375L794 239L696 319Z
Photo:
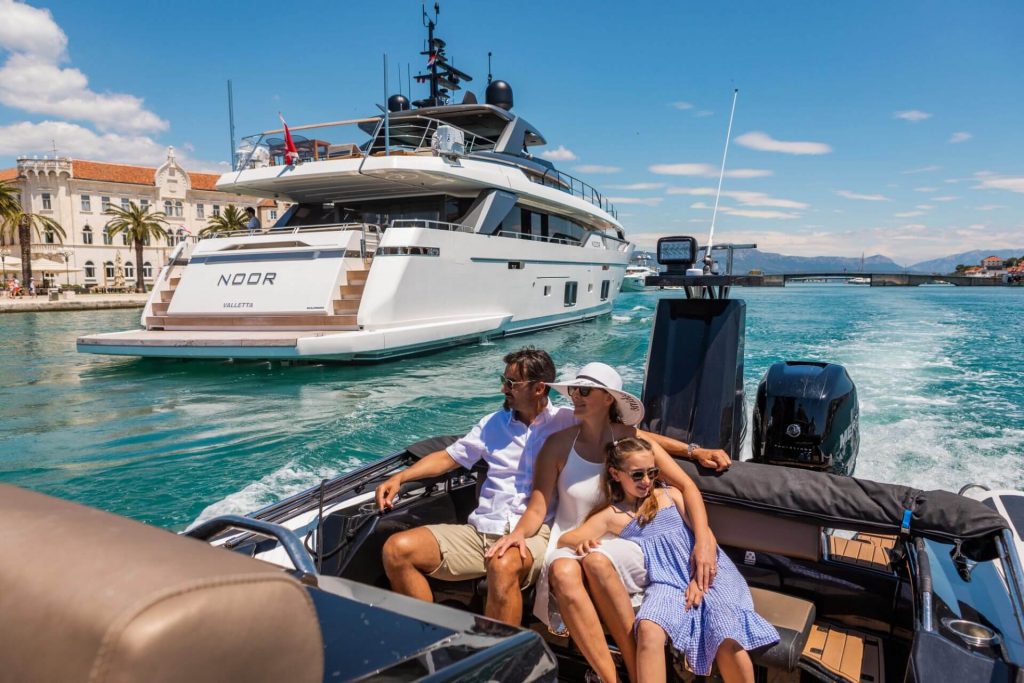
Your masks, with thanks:
M558 545L585 555L602 536L615 533L643 549L648 585L633 627L641 682L665 680L668 638L694 674L707 676L715 661L726 683L753 683L746 650L777 642L778 632L754 611L746 582L721 548L714 581L700 590L691 578L693 532L683 497L671 486L656 487L658 474L647 441L629 437L608 444L605 501Z

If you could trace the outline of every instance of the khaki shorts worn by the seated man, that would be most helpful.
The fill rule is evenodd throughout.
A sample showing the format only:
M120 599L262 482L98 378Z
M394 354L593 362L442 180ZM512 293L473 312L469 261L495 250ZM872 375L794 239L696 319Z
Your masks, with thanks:
M440 565L428 575L441 581L466 581L486 575L483 553L502 538L499 533L481 533L471 524L427 524L424 528L434 535L441 551ZM526 539L526 550L534 556L534 563L522 588L537 581L541 573L550 536L551 528L545 524L536 536ZM506 552L519 551L513 548Z

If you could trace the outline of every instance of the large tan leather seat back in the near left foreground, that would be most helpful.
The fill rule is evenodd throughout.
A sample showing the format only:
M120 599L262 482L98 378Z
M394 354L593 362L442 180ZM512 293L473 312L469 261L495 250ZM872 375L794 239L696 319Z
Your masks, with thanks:
M3 484L0 543L0 680L323 680L280 567Z

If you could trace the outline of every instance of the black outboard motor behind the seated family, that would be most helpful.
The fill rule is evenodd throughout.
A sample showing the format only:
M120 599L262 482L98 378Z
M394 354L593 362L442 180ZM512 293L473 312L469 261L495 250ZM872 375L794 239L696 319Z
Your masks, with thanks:
M857 387L830 362L776 362L758 385L754 462L853 475L860 447Z

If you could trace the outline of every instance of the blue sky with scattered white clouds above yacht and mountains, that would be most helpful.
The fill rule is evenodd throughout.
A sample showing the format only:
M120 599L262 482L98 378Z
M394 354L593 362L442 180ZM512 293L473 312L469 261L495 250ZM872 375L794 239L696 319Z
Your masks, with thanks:
M392 84L424 63L420 8L0 0L0 168L54 141L226 168L227 79L239 137L279 111L374 114L382 55ZM904 264L1024 248L1022 2L447 0L438 35L478 94L494 52L548 158L642 245L707 234L738 88L716 241Z

